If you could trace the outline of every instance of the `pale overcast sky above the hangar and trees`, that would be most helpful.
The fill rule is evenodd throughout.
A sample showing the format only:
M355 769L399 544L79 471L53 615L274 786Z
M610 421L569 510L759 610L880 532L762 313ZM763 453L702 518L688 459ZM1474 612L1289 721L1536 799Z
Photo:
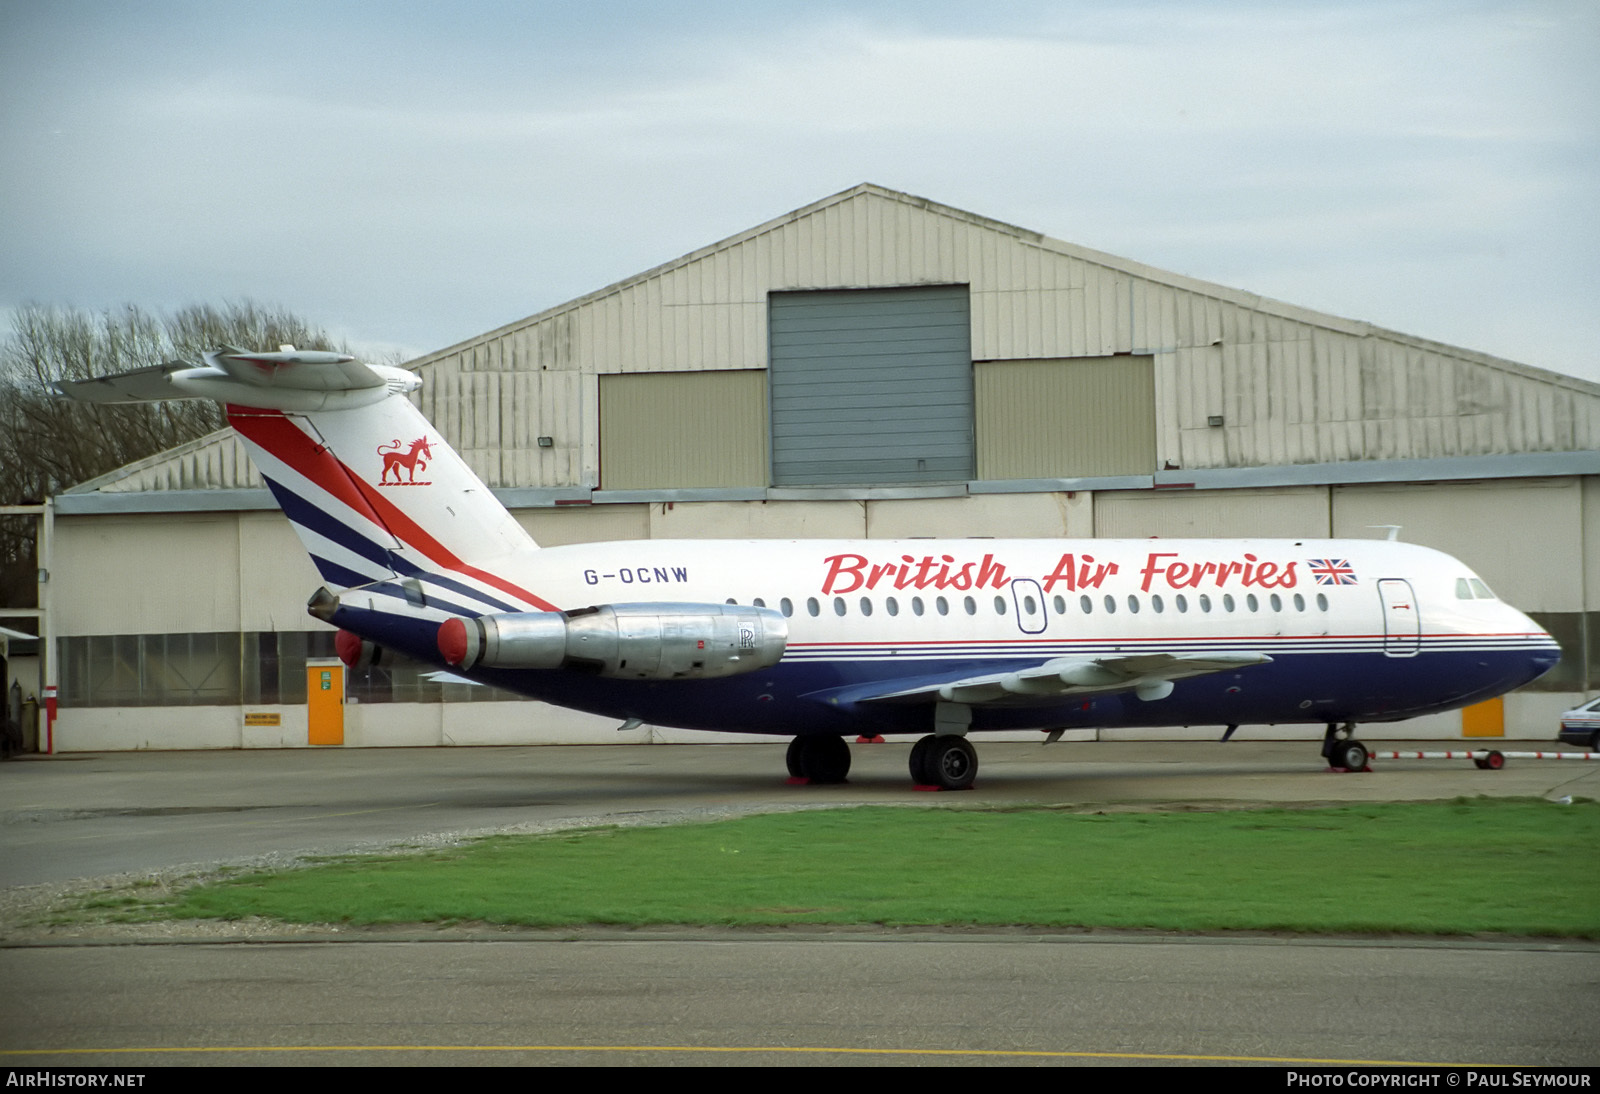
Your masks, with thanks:
M0 0L0 309L440 349L870 181L1600 381L1600 5Z

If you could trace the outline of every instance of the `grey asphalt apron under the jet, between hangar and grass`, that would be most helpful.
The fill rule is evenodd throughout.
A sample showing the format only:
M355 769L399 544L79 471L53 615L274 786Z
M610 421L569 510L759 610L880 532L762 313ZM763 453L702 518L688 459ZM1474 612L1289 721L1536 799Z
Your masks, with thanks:
M69 753L0 765L0 886L430 836L768 806L939 800L1414 801L1600 798L1600 763L1374 763L1330 773L1315 742L1003 744L976 789L914 790L909 744L854 745L850 782L790 787L784 744ZM1440 749L1437 742L1426 745Z

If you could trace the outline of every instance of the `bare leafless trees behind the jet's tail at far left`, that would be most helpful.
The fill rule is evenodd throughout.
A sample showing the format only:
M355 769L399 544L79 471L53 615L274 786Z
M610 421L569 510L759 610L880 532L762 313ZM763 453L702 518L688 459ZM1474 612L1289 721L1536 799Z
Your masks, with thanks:
M218 345L331 349L328 334L283 309L250 301L200 304L171 315L134 305L83 312L29 305L0 341L0 504L37 504L221 427L205 400L93 405L50 395L56 381L88 379L170 360L198 363ZM0 518L0 605L35 601L34 521Z

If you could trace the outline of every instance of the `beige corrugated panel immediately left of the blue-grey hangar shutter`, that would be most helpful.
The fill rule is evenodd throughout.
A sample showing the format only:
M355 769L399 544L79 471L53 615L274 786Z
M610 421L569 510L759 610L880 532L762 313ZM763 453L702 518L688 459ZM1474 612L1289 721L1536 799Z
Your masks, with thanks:
M766 373L602 376L600 486L766 486Z

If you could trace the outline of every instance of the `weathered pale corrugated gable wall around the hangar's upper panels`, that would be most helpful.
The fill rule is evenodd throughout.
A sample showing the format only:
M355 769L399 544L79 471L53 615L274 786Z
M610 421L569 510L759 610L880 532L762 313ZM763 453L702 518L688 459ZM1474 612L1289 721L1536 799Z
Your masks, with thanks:
M1597 384L867 184L421 358L422 409L493 486L594 485L600 374L765 368L770 293L910 285L970 286L974 360L1154 355L1158 464L1600 448Z

